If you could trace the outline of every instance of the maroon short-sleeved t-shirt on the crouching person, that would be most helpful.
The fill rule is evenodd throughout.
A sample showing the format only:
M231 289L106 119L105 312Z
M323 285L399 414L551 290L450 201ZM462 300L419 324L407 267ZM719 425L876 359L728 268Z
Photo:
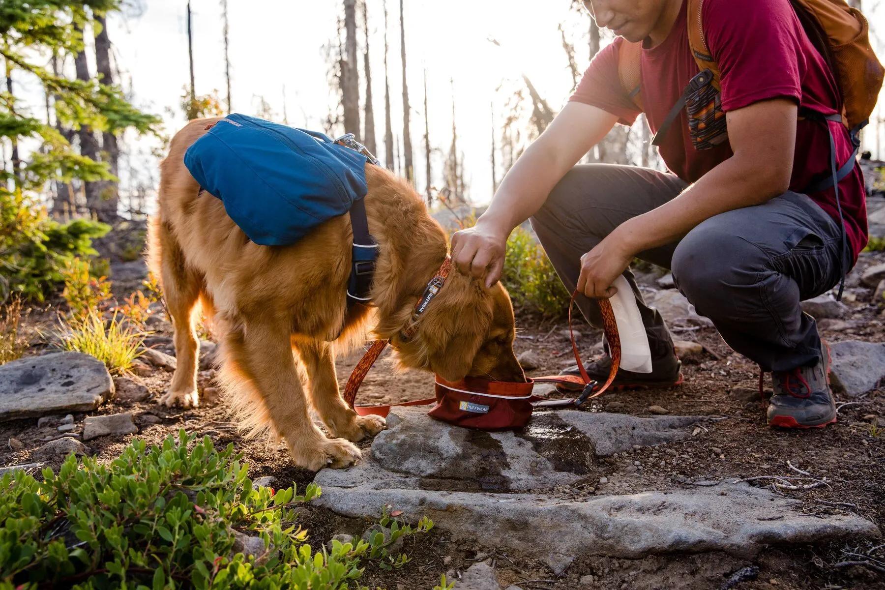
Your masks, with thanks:
M652 133L666 119L698 67L689 48L686 4L666 40L643 49L641 92ZM720 67L722 110L734 111L776 97L824 114L842 111L842 99L833 74L805 35L789 0L706 0L702 11L704 37ZM618 54L624 40L616 38L590 63L571 100L596 106L631 125L640 111L627 96L618 75ZM848 131L830 122L835 136L836 164L843 165L854 151ZM728 142L712 149L692 145L689 121L683 110L659 146L667 167L682 180L694 182L732 156ZM790 190L805 188L830 175L830 147L823 123L800 119ZM835 192L828 188L809 195L838 222ZM866 195L860 167L839 183L849 248L855 255L866 246Z

